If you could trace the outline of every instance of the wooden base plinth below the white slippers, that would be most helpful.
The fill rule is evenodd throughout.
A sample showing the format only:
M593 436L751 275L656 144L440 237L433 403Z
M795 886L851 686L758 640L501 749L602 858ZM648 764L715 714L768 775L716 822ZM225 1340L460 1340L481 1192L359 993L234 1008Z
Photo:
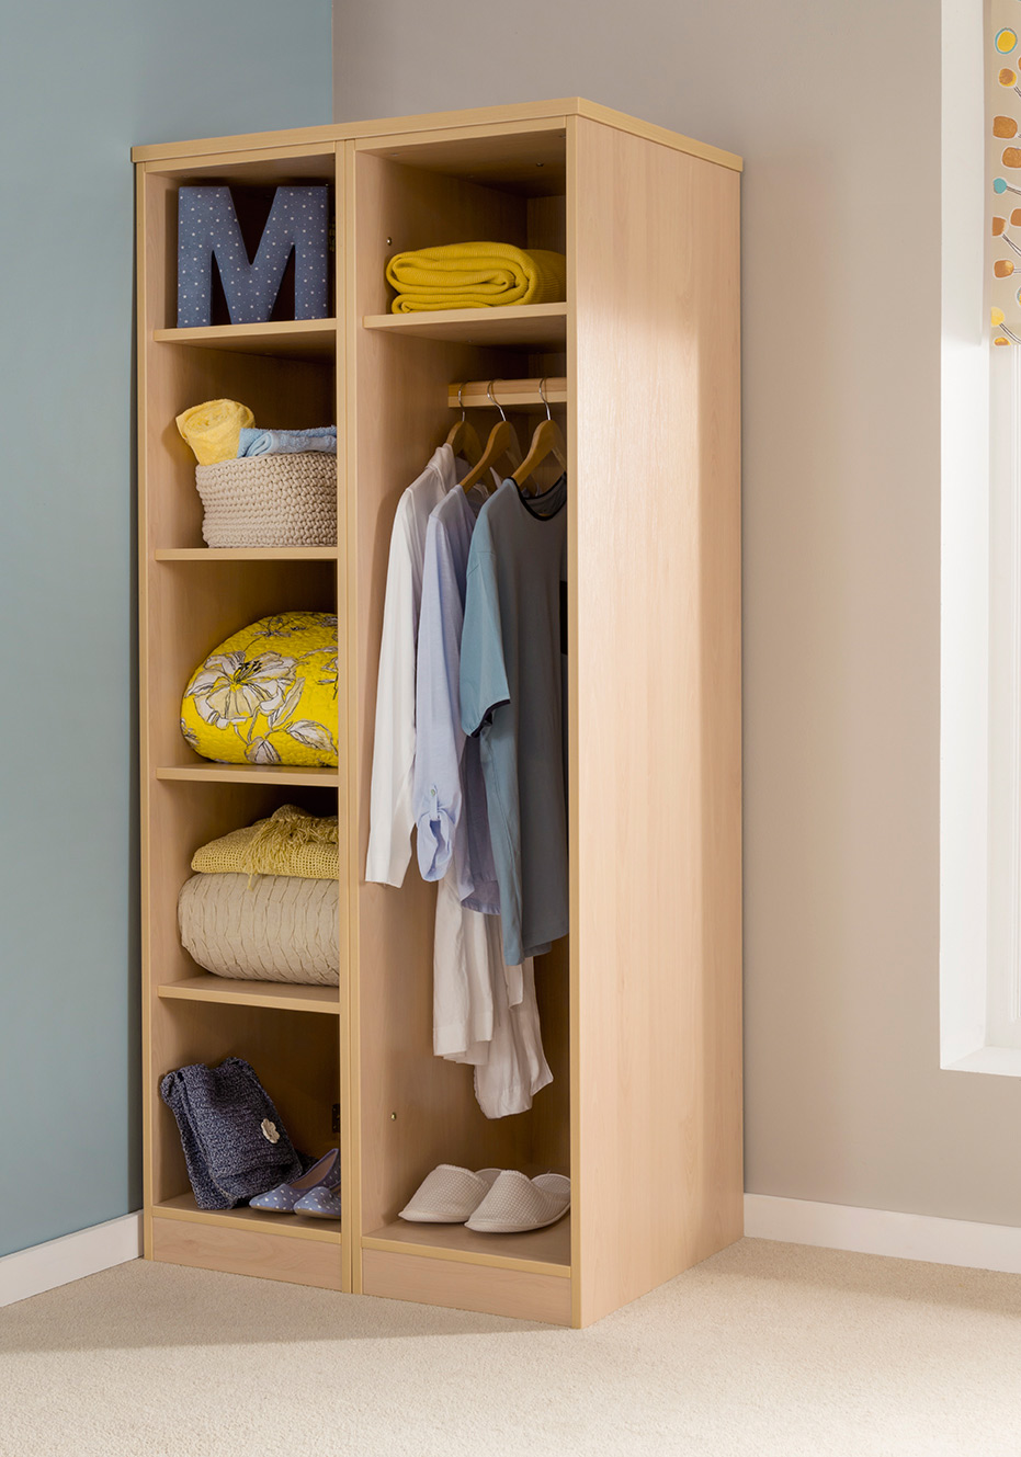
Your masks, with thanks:
M484 1316L571 1324L571 1281L562 1275L491 1269L462 1260L428 1259L386 1250L361 1252L366 1295L411 1300L421 1305L476 1310Z

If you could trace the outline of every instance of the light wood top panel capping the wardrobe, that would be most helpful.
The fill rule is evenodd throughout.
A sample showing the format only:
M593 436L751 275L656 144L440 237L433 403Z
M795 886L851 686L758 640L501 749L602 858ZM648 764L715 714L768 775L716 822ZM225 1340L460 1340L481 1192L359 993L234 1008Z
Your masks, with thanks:
M655 127L636 117L628 117L609 106L571 96L564 101L520 102L514 106L479 106L470 111L437 111L419 117L390 117L382 121L334 122L329 127L297 127L291 131L256 131L242 137L207 137L198 141L162 143L159 146L133 147L131 159L144 162L147 170L172 172L176 159L204 157L223 152L264 152L272 153L280 149L307 149L335 146L339 141L360 141L370 137L385 140L402 133L444 131L454 127L491 127L500 128L520 122L555 121L567 117L588 117L606 127L618 131L629 131L648 141L658 141L661 146L674 147L718 166L741 170L741 159L733 152L722 152L706 143L695 141L692 137L682 137L680 133L669 131L666 127ZM291 153L293 159L294 153ZM267 159L269 160L269 159Z

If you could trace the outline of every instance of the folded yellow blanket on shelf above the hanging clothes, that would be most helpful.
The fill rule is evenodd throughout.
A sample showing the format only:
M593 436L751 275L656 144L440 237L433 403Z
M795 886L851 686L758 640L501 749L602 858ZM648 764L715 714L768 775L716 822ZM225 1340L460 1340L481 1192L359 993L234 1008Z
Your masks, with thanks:
M392 313L559 303L567 294L567 258L513 243L446 243L395 254L386 281L398 290Z

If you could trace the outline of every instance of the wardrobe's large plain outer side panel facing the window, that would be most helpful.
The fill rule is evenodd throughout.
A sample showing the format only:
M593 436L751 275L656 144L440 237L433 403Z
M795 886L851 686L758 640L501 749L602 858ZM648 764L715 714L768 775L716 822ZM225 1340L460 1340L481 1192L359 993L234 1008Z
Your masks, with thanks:
M574 1319L741 1234L738 176L578 118Z

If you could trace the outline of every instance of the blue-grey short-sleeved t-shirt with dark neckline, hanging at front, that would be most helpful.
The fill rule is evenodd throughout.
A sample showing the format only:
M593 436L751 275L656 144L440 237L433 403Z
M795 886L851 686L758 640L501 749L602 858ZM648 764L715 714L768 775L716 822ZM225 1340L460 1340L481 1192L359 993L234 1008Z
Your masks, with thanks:
M569 927L561 621L567 476L543 495L504 481L472 536L460 648L465 733L482 750L504 960Z

